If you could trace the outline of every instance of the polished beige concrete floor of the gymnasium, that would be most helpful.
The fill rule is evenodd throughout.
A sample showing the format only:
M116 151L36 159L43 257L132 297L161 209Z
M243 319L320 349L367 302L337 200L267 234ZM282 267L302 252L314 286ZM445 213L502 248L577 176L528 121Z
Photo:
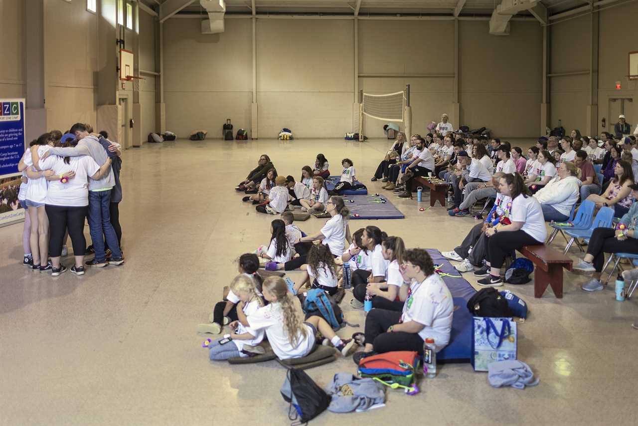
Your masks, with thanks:
M341 158L352 158L371 192L382 192L369 178L387 146L209 140L129 149L120 205L126 263L84 277L27 270L22 225L0 228L0 425L289 424L279 394L283 367L212 363L195 333L236 274L234 259L269 239L273 217L242 204L233 186L262 153L280 174L297 177L322 152L334 170ZM405 219L351 227L374 224L408 247L450 250L476 223L450 218L438 204L420 212L416 201L392 201ZM315 232L322 224L311 218L299 226ZM577 248L571 254L576 258ZM419 413L430 425L635 425L638 331L630 324L637 302L615 301L613 285L585 293L582 282L566 273L562 300L551 291L533 298L531 284L506 286L530 305L518 349L540 377L537 387L494 389L469 364L444 365L436 379L420 383L417 396L388 392L386 407L326 412L312 424L410 424ZM349 299L346 319L363 324ZM336 372L354 373L355 365L339 359L309 370L322 385Z

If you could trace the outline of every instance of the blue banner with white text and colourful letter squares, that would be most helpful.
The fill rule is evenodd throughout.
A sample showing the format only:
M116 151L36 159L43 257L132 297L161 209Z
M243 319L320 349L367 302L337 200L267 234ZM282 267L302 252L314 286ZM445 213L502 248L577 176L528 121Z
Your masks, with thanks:
M24 99L0 98L0 226L24 220L18 201L24 149Z

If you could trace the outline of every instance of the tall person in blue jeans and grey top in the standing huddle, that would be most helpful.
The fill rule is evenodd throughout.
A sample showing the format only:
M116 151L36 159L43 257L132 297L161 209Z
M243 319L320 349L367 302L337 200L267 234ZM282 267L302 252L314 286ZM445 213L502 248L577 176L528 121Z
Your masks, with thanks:
M74 148L51 148L49 154L59 156L89 155L98 165L103 165L109 156L115 156L100 144L99 135L89 133L89 128L83 123L75 123L69 133L75 135L78 141ZM43 156L43 159L45 156ZM95 257L85 262L86 266L104 268L107 264L121 265L124 263L122 252L117 241L117 235L110 220L111 192L115 186L115 178L109 169L101 179L89 181L89 230ZM111 258L107 261L104 241L111 250Z

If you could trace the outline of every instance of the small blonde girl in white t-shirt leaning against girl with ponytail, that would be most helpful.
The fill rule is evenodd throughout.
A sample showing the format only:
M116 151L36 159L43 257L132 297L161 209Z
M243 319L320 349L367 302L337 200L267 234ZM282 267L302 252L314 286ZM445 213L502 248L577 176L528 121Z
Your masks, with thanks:
M223 339L206 340L211 361L228 360L228 358L248 357L253 354L264 354L263 347L258 346L264 336L263 330L255 330L248 324L248 316L263 307L262 295L258 293L253 280L247 275L239 275L230 283L230 289L237 294L237 320L228 324L232 330ZM230 339L230 340L228 340Z

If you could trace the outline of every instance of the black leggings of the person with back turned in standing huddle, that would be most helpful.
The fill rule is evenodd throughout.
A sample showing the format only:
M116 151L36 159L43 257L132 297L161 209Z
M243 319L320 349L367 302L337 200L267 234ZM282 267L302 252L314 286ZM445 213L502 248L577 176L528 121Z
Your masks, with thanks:
M51 257L59 257L62 254L62 242L64 232L69 230L73 255L84 256L86 250L86 238L84 238L84 219L89 206L62 207L45 206L49 222L48 254Z

